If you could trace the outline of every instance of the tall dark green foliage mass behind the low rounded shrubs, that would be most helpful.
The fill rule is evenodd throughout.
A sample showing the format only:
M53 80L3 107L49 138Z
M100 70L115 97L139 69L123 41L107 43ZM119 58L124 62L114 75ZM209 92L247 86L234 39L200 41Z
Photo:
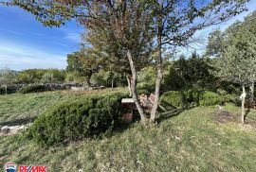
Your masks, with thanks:
M174 60L170 65L167 75L164 77L164 87L168 90L180 90L191 87L212 89L214 77L210 74L209 59L203 59L192 53L185 58L183 55Z

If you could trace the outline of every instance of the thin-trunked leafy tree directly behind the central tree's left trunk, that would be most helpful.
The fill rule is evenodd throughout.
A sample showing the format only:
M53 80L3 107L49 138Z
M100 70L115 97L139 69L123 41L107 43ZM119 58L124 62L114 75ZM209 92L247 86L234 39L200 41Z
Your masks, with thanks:
M101 23L103 24L103 22ZM105 25L91 25L90 30L86 30L85 34L82 35L82 41L84 43L91 44L91 53L103 58L104 62L102 64L102 68L113 74L111 75L112 81L114 81L114 77L118 77L120 75L126 77L130 96L132 96L132 73L129 60L127 59L125 46L123 46L120 40L115 37L115 32L113 30L106 32L104 26ZM139 39L139 37L137 37L137 39ZM149 58L149 50L145 53L145 49L137 48L136 51L137 52L135 52L135 54L137 55L137 58L134 58L134 60L137 65L135 67L136 70L139 71L143 67L150 65L152 59Z

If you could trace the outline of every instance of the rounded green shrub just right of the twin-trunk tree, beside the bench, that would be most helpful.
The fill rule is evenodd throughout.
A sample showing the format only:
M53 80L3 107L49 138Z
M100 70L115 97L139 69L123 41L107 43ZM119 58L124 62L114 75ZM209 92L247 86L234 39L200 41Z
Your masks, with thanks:
M170 91L161 95L161 102L167 102L175 108L184 108L187 106L185 96L181 92Z

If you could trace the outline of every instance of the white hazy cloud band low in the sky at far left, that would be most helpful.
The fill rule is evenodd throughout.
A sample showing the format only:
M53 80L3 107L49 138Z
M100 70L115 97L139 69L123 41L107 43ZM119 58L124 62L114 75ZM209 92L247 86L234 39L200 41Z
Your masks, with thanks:
M27 68L60 68L66 66L65 55L45 52L44 50L20 43L0 42L0 66L22 70Z

